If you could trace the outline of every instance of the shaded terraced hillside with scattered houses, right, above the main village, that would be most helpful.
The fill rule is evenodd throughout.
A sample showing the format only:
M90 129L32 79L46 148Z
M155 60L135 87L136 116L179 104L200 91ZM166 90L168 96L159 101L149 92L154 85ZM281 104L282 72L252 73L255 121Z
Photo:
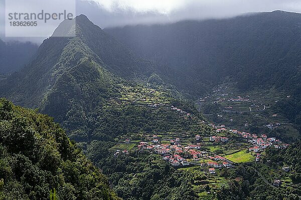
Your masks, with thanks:
M240 93L233 88L220 85L200 101L200 109L210 121L248 132L256 130L258 132L254 133L263 134L276 131L287 139L298 138L299 132L294 125L271 108L280 97L286 97L286 93L274 88ZM273 126L268 127L268 124Z

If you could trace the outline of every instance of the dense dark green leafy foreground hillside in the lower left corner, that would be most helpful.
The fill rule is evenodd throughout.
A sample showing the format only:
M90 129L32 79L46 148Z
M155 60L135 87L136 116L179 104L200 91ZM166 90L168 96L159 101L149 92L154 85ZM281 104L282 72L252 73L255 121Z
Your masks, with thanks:
M59 124L0 99L0 199L117 199Z

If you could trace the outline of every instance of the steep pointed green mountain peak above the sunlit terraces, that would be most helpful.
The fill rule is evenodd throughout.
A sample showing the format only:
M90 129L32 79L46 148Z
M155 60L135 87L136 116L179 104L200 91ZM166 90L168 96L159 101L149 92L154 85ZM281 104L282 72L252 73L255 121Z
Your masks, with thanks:
M162 79L155 75L152 62L135 56L86 16L74 20L75 28L65 21L54 35L68 27L76 36L44 40L29 66L2 81L0 94L16 104L39 108L88 139L93 131L91 113L120 96L120 84Z

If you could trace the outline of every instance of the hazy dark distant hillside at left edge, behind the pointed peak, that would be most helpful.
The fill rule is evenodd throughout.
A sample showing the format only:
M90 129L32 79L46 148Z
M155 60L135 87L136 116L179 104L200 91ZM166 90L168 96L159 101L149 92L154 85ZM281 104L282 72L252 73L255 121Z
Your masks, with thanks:
M0 73L15 72L33 58L38 46L26 42L7 42L0 39Z

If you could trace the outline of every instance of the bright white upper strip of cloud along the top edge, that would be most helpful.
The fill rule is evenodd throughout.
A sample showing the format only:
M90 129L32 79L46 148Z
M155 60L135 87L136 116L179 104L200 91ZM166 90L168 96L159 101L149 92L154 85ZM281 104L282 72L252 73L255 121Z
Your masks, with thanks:
M173 15L185 10L187 16L194 17L190 9L201 8L202 15L221 15L222 13L242 13L246 11L269 11L289 9L300 11L300 0L81 0L94 2L109 12L158 12ZM204 8L204 9L202 9Z

